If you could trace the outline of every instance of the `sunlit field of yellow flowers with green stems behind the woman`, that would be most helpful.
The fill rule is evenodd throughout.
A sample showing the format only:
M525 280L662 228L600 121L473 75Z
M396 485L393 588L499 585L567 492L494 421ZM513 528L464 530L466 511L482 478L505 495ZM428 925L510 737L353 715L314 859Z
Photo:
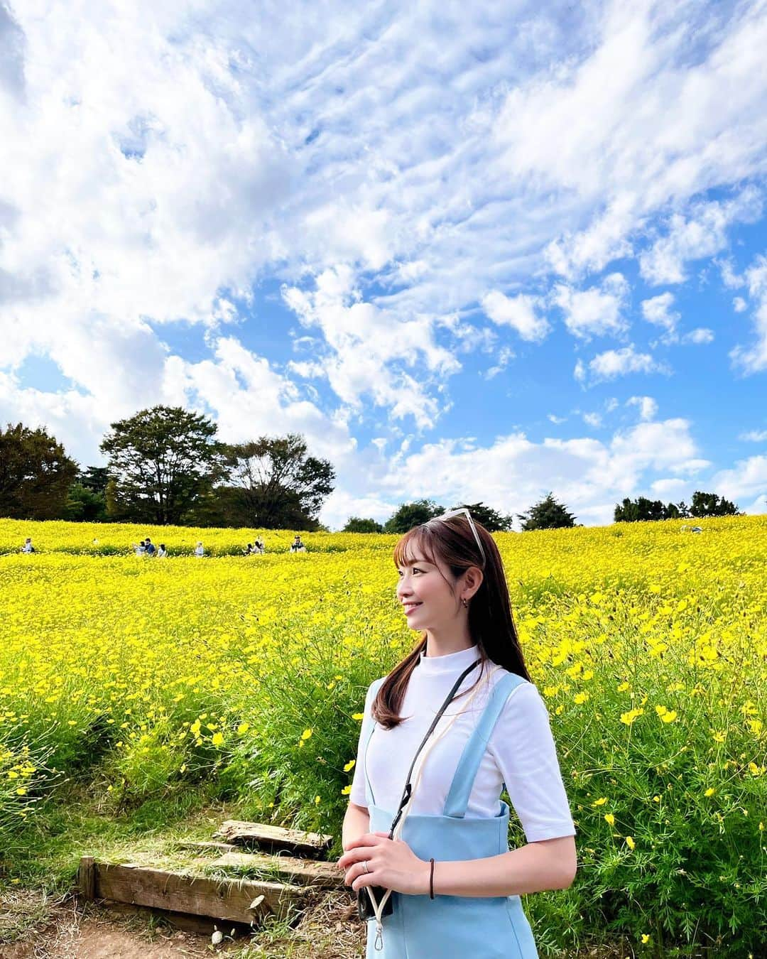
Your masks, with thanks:
M497 535L578 830L575 883L525 900L542 954L767 949L767 517L693 522ZM0 521L2 881L73 782L339 836L364 691L416 639L396 537L256 534Z

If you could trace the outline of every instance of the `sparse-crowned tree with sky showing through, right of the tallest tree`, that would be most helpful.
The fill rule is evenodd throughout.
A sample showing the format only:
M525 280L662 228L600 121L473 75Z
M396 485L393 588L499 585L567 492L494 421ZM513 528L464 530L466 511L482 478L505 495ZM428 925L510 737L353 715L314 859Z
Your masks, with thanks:
M336 471L328 459L307 454L300 433L229 446L228 488L220 491L227 513L241 526L319 528L316 514L333 492Z

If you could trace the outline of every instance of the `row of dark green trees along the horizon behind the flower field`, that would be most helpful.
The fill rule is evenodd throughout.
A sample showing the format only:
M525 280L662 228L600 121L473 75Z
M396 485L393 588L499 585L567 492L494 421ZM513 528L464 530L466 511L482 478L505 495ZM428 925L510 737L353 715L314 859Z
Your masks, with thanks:
M142 409L110 425L100 449L106 466L84 469L45 428L18 423L0 429L0 516L157 526L247 526L327 529L318 520L336 471L310 456L299 433L223 443L216 424L182 407ZM514 517L485 503L466 506L491 532ZM385 523L352 516L345 532L403 533L445 512L432 500L401 503ZM645 497L616 503L616 523L740 515L735 503L696 491L686 503ZM575 516L549 492L525 513L523 531L575 526ZM578 524L582 525L582 524Z

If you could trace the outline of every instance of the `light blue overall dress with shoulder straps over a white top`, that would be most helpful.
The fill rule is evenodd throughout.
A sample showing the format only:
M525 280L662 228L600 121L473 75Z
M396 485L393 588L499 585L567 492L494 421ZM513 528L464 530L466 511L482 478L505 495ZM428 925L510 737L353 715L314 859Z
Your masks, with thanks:
M381 680L380 682L383 682ZM407 816L401 838L420 859L480 859L507 853L509 807L501 802L494 817L466 817L476 771L503 704L521 683L507 673L491 691L458 761L444 813ZM374 690L377 692L378 690ZM373 735L374 723L364 749ZM450 734L448 734L450 735ZM364 755L364 754L363 754ZM365 769L365 794L371 832L388 832L394 812L377 807ZM366 959L538 959L530 924L519 896L468 897L392 893L393 911L383 917L383 948L375 948L376 922L367 921Z

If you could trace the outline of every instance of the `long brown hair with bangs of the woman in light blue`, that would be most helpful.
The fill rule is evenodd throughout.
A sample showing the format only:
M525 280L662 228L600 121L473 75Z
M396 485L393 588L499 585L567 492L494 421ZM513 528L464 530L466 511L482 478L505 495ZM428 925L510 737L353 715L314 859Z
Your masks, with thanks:
M412 563L415 550L421 550L424 559L434 565L439 559L456 579L469 567L478 567L483 578L470 600L469 632L476 643L477 656L482 661L479 675L490 661L529 680L498 546L484 526L476 521L475 526L484 550L484 562L469 521L465 516L458 515L447 520L430 520L429 523L409 529L394 547L394 565L399 569L408 562ZM422 633L419 643L402 663L391 670L378 690L373 702L373 717L384 729L393 729L403 720L400 709L407 684L421 653L426 649L426 643L427 634Z

